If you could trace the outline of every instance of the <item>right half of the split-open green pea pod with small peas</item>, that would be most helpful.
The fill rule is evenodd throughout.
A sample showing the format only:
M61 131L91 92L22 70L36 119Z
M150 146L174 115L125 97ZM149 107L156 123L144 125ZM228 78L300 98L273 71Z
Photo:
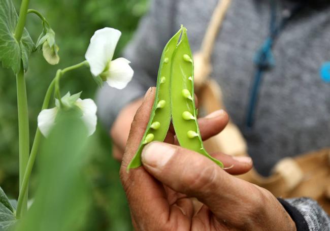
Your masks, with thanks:
M184 27L172 57L171 73L171 114L180 146L207 156L223 168L223 164L210 156L203 146L193 97L192 54Z

